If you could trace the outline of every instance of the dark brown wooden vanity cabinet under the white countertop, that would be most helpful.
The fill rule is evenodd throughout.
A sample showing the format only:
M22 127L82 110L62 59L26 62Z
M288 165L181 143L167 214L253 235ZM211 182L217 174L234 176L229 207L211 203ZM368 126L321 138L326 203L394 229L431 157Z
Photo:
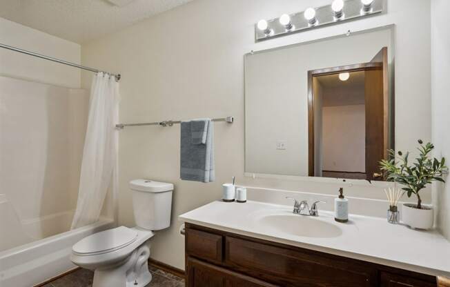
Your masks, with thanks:
M431 287L429 275L186 224L188 287Z

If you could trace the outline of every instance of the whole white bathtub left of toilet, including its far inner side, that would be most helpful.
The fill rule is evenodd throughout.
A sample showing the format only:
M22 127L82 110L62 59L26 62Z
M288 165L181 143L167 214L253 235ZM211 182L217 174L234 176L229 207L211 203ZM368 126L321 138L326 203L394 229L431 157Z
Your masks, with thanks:
M73 244L92 233L115 226L113 219L102 217L95 224L61 232L69 229L72 212L16 222L17 216L8 206L8 201L0 197L0 243L5 244L3 249L8 248L0 252L0 287L35 286L76 268L69 259ZM61 233L52 235L57 230ZM42 237L46 238L39 239ZM14 240L19 240L16 246L21 245L13 248L6 245L11 245Z

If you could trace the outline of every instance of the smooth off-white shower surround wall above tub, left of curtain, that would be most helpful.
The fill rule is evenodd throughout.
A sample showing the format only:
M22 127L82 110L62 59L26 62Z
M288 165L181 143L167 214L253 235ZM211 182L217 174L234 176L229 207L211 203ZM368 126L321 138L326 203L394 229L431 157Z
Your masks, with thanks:
M86 90L0 77L0 193L22 221L75 209L88 101Z

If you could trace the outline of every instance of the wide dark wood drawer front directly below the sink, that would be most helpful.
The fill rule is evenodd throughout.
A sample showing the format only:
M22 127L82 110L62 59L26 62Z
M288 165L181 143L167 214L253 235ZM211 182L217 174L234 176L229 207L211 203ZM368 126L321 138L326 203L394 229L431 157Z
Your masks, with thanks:
M226 236L224 264L240 273L282 286L376 286L371 264L300 248L284 248Z

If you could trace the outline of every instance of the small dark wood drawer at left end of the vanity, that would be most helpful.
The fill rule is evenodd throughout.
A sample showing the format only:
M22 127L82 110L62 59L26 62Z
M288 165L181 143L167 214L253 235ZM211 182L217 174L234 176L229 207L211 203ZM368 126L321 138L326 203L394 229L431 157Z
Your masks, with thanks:
M222 246L222 235L192 228L186 230L186 253L190 256L220 264Z

